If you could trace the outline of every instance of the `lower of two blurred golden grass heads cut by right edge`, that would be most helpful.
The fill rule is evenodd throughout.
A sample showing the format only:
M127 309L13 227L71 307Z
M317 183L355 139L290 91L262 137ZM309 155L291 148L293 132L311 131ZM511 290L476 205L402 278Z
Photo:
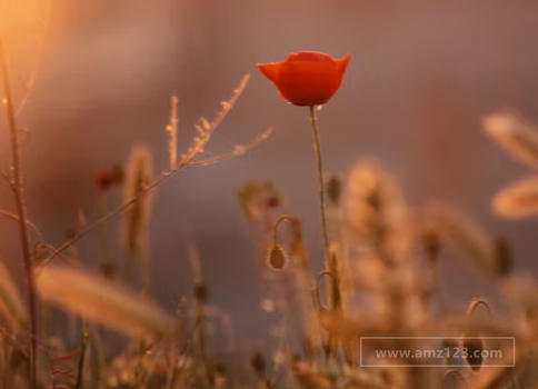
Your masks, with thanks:
M495 213L512 220L538 215L538 178L520 180L500 190L491 208Z

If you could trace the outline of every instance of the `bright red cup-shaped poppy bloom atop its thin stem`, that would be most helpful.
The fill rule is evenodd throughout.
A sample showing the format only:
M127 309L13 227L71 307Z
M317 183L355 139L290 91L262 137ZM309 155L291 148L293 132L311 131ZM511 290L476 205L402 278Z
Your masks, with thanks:
M340 89L350 60L350 54L336 60L322 52L301 51L282 62L258 63L258 68L275 82L283 100L296 106L320 106Z

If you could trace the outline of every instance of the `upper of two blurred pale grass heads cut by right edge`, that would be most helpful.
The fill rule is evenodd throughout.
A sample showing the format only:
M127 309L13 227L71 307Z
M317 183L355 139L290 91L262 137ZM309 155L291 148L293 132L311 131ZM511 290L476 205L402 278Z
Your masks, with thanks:
M538 131L535 126L512 113L490 114L482 120L482 126L515 159L538 168Z

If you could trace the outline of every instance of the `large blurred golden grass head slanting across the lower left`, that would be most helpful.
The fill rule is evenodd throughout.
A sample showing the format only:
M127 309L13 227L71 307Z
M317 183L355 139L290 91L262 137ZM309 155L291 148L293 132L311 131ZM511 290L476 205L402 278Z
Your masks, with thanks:
M157 306L79 270L49 266L37 275L37 287L44 301L127 335L165 337L173 331L173 318Z

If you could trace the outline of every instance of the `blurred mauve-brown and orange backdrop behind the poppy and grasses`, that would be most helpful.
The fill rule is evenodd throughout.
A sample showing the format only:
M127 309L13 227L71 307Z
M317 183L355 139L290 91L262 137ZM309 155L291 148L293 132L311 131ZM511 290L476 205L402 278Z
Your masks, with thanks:
M209 301L232 316L241 339L257 340L270 330L260 309L257 243L235 197L248 179L272 180L282 191L286 209L303 218L310 256L321 269L308 110L281 101L256 68L302 50L352 56L341 90L319 112L328 171L345 174L360 158L376 156L411 207L449 200L494 236L506 237L519 270L538 269L538 220L509 223L490 211L498 189L532 172L480 126L499 109L538 122L536 1L54 0L49 7L47 29L32 28L44 12L37 6L36 20L27 13L20 21L19 9L1 17L11 32L7 46L17 99L37 69L19 123L29 130L23 148L29 215L51 245L64 241L79 209L88 221L96 219L93 171L126 161L132 144L153 152L156 172L168 169L165 128L172 93L179 98L181 150L196 136L198 118L218 112L245 73L250 82L208 156L275 127L248 154L185 169L158 188L150 296L167 310L175 310L180 296L191 296L192 242ZM0 114L2 168L7 134ZM13 209L3 183L0 208ZM120 220L109 225L110 231L119 227ZM0 253L22 281L13 223L0 220ZM97 268L96 246L94 235L80 243L90 269ZM442 268L455 302L492 291L451 256Z

